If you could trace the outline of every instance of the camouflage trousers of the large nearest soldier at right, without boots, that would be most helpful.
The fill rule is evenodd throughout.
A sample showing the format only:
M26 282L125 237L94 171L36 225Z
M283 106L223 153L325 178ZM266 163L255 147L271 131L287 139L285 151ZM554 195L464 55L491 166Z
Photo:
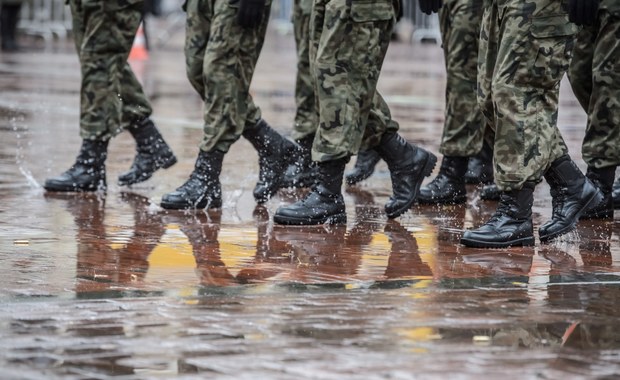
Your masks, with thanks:
M478 101L495 130L501 190L539 182L568 152L557 128L560 80L577 27L558 0L488 0L478 58Z

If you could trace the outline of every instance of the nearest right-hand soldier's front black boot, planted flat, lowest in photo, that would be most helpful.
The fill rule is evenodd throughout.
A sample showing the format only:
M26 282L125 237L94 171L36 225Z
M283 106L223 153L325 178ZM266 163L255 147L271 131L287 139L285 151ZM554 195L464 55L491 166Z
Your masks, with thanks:
M520 190L502 192L495 214L475 230L465 231L461 244L475 248L507 248L534 245L532 204L534 182Z

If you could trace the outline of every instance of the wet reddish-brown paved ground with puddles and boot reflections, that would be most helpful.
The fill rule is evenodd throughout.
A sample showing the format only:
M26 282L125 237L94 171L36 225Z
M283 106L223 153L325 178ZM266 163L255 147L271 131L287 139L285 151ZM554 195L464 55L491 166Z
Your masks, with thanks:
M120 188L128 134L113 140L107 194L40 184L78 151L79 67L70 44L0 56L0 378L615 379L620 376L620 225L582 222L549 245L465 248L494 202L415 206L387 220L385 164L345 190L346 226L274 225L283 191L255 207L257 156L224 161L224 207L170 212L201 136L201 102L177 33L136 62L179 163ZM380 89L402 133L438 150L442 53L394 43ZM291 36L270 32L252 92L290 133ZM572 154L585 116L564 85ZM350 164L352 165L352 163ZM536 226L549 218L546 184Z

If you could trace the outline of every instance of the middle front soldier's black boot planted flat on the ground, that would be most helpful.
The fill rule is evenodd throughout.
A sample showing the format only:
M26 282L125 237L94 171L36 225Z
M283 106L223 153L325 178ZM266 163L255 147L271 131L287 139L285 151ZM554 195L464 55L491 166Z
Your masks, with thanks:
M317 181L306 198L276 211L273 221L288 225L344 224L347 213L341 187L349 157L317 164Z

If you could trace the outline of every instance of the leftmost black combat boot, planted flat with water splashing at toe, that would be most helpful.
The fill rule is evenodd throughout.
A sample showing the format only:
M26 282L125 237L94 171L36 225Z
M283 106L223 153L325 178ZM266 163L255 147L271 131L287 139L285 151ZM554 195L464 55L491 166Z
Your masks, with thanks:
M58 177L45 180L48 191L97 191L106 189L105 160L109 140L82 140L75 164Z

